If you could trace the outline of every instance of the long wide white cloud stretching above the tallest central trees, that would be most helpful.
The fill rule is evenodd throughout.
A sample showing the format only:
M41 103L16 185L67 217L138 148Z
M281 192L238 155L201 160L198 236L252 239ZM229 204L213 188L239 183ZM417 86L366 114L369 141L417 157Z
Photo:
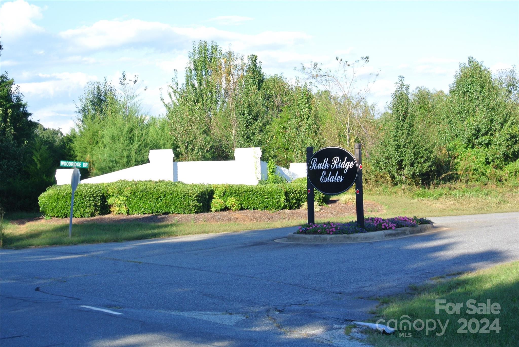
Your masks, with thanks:
M185 46L193 40L215 40L222 46L234 49L269 47L279 48L303 43L310 36L295 31L266 31L260 34L242 34L218 30L214 27L175 27L160 22L139 19L126 21L101 20L91 26L70 29L59 33L69 41L71 50L98 50L109 47L155 47L171 49Z

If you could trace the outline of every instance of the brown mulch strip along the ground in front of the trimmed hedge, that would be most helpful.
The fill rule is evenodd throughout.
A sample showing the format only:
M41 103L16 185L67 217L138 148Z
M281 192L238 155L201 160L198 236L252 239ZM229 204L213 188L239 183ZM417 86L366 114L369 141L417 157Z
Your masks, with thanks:
M373 201L364 201L364 211L384 212L384 207ZM355 204L342 203L338 200L330 200L325 206L319 206L316 209L316 219L332 220L334 217L355 215ZM125 222L141 222L141 223L251 223L251 222L268 222L280 220L301 220L306 219L307 210L281 210L281 211L222 211L207 212L197 214L167 214L167 215L105 215L90 218L74 218L74 223L125 223ZM43 217L26 218L12 220L11 223L23 225L36 221L38 223L61 224L67 218L51 218Z

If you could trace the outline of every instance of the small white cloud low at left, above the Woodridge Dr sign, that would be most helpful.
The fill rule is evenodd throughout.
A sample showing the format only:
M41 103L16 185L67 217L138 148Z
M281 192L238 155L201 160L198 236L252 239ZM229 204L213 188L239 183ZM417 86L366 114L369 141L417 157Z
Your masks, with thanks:
M20 83L20 91L24 94L52 97L55 94L67 93L83 88L87 82L97 80L97 76L87 75L82 72L63 72L54 74L38 74L40 78L48 79L38 82Z

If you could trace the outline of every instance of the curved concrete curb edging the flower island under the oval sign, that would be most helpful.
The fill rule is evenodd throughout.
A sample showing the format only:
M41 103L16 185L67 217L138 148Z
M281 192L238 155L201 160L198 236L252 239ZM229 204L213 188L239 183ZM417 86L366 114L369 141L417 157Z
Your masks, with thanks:
M432 224L422 224L417 227L397 228L391 230L380 230L366 232L362 234L338 234L338 235L307 235L290 233L286 237L286 242L295 243L344 243L344 242L363 242L363 241L379 241L391 238L399 238L405 235L420 234L427 231L433 231Z

